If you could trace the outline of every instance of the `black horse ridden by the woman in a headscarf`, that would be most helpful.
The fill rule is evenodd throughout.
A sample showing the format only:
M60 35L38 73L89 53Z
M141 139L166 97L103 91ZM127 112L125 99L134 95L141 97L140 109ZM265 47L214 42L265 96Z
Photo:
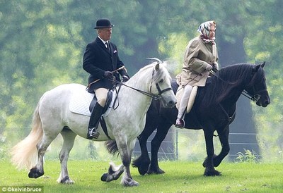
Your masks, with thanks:
M263 66L265 63L259 65L241 63L227 66L219 70L213 77L209 77L205 87L199 87L195 104L190 113L185 115L185 128L204 131L207 147L207 158L202 164L205 168L204 175L220 175L214 167L219 166L229 153L229 125L235 118L236 102L241 94L246 92L258 106L266 107L270 104ZM177 83L173 81L171 85L176 92ZM132 163L138 168L141 175L164 173L158 166L158 149L169 128L175 124L177 114L177 108L162 108L159 101L152 101L146 113L144 131L138 137L141 156ZM151 141L150 160L146 140L156 129L156 135ZM214 154L213 144L215 130L222 147L217 156Z

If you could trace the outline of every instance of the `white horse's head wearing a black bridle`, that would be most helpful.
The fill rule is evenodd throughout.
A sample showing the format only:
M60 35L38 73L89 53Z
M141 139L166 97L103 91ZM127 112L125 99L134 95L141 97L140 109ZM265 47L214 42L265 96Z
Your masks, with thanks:
M155 99L162 101L163 106L173 108L177 100L171 87L171 76L162 61L158 60L153 65L154 70L149 91L156 96Z

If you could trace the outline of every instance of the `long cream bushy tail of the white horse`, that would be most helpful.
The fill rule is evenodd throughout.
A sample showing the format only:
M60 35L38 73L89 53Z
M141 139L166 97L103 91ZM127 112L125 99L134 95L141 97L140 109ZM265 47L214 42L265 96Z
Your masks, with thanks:
M37 144L41 141L43 130L39 114L40 103L37 104L33 113L33 124L30 134L23 141L16 144L12 149L12 163L16 168L31 169L37 164Z

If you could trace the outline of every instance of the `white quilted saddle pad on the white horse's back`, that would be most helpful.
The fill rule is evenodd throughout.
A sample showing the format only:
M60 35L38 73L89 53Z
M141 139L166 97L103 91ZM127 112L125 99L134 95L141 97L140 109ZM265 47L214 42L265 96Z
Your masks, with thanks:
M111 91L113 92L113 91ZM89 111L89 105L91 104L91 101L94 97L94 94L91 94L87 91L81 92L81 90L74 90L73 96L71 97L70 104L69 104L69 110L73 113L81 114L83 116L91 116L91 112ZM116 97L116 92L112 93L112 101L110 105L108 106L107 111L103 114L104 117L108 116L110 113L114 99Z

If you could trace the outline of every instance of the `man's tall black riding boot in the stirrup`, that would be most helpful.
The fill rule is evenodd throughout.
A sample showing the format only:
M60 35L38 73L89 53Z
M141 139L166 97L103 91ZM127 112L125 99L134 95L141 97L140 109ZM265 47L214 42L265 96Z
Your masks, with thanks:
M103 107L100 104L96 103L93 107L93 111L91 111L91 118L88 123L88 135L87 139L97 139L99 136L99 132L97 131L99 120L103 113Z

